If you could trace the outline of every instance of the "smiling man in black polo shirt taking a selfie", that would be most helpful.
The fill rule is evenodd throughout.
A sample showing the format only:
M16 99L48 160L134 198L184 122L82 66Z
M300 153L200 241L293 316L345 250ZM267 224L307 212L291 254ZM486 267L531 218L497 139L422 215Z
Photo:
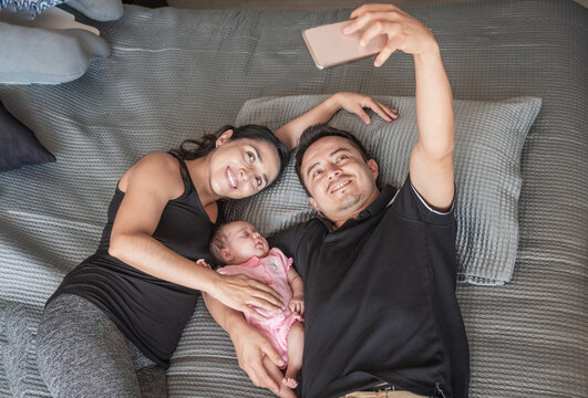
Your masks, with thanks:
M455 297L453 105L439 45L390 4L363 6L351 18L345 33L368 27L363 43L388 35L375 66L396 50L413 54L420 136L398 191L379 190L378 164L349 133L318 125L300 138L297 171L319 217L270 243L293 256L305 282L302 397L467 397ZM260 366L265 355L280 365L274 349L240 314L207 304L254 384L276 390Z

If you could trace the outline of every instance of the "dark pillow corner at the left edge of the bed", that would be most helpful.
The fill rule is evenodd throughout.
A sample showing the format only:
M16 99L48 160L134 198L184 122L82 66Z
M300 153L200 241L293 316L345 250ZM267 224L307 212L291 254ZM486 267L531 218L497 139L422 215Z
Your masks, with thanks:
M24 165L41 165L55 161L37 139L33 132L17 121L0 103L0 171Z

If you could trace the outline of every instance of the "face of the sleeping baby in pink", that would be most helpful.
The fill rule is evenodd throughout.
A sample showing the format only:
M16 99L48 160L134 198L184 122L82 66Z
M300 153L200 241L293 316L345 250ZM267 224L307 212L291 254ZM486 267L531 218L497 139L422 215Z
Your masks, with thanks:
M248 222L235 221L224 227L226 248L223 256L230 264L240 264L254 255L266 256L269 250L268 241L261 237L257 229Z

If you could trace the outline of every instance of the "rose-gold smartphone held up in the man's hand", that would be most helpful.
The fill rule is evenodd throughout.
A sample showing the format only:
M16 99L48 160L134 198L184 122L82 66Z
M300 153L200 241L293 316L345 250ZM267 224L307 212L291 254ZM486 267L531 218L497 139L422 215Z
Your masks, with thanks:
M310 55L319 70L378 54L388 41L385 34L374 38L367 46L359 44L364 30L343 34L351 21L329 23L302 32Z

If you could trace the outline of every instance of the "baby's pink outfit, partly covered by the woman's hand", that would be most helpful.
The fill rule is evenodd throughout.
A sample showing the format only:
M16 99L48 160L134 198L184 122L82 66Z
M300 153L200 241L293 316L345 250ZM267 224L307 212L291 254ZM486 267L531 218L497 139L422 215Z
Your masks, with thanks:
M243 264L226 265L217 270L223 275L244 274L266 282L281 296L281 302L286 306L281 313L276 314L264 308L256 308L266 317L265 321L257 320L249 314L245 314L245 318L250 325L264 332L281 355L285 367L288 364L288 333L295 322L302 322L299 314L288 308L292 298L292 290L288 283L288 270L291 264L292 259L287 259L279 249L272 248L262 259L254 256Z

